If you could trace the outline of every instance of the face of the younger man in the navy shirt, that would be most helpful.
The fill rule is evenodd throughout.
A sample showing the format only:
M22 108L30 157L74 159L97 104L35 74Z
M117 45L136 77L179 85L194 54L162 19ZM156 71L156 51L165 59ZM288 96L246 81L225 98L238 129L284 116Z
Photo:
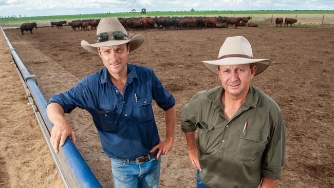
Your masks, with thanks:
M130 46L126 44L98 48L103 65L110 74L120 74L126 71L127 55Z

